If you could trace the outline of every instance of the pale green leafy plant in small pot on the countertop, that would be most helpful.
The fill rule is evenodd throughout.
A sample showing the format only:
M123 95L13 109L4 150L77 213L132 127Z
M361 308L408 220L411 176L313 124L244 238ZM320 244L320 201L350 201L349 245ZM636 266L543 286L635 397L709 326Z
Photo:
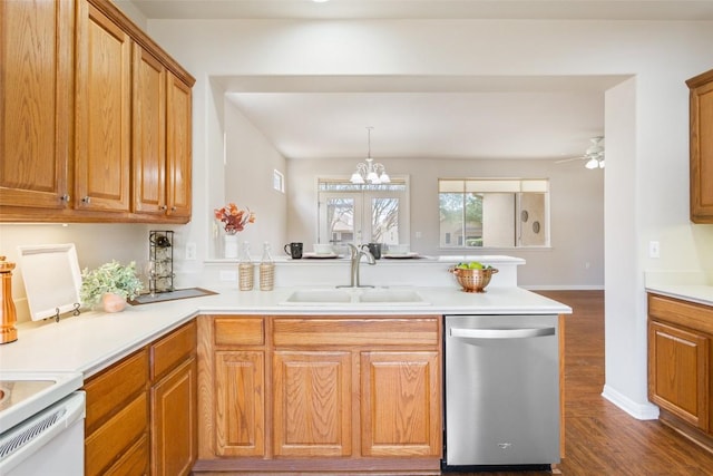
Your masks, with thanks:
M87 268L82 270L79 297L85 304L94 305L99 302L104 293L113 292L125 299L134 299L143 288L136 274L134 261L123 266L118 261L111 260L96 270L89 271Z

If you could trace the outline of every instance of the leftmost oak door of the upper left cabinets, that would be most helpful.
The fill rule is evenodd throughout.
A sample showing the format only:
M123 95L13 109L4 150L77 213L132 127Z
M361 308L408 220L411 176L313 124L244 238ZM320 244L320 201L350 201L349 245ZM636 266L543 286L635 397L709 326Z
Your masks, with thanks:
M0 206L70 200L72 25L71 1L0 2Z

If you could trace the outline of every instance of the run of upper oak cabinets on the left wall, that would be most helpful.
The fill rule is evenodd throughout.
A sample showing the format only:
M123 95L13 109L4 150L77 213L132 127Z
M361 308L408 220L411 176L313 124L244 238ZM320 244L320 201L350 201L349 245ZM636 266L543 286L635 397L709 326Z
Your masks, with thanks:
M195 79L110 0L0 25L0 221L188 222Z

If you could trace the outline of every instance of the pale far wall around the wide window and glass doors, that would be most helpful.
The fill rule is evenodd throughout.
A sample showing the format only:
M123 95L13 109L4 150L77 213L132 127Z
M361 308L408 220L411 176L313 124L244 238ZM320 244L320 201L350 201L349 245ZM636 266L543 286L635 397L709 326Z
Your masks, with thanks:
M551 236L549 249L495 249L489 253L524 258L518 283L538 289L600 289L604 284L604 172L579 162L389 159L391 175L409 174L411 249L422 254L453 254L438 239L438 178L458 176L550 179ZM316 240L319 175L345 176L353 161L287 161L290 241ZM417 239L421 232L421 239ZM460 252L462 253L462 252ZM458 254L458 253L455 253ZM589 266L587 266L587 263Z

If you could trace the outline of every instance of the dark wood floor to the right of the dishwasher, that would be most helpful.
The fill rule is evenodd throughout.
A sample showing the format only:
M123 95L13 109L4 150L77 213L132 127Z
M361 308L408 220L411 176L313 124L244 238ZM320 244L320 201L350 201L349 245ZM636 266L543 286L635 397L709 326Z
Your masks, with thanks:
M713 454L657 420L641 421L614 406L604 388L604 292L547 291L573 308L565 332L566 476L713 475ZM489 473L495 476L550 473ZM465 476L460 474L460 476Z

